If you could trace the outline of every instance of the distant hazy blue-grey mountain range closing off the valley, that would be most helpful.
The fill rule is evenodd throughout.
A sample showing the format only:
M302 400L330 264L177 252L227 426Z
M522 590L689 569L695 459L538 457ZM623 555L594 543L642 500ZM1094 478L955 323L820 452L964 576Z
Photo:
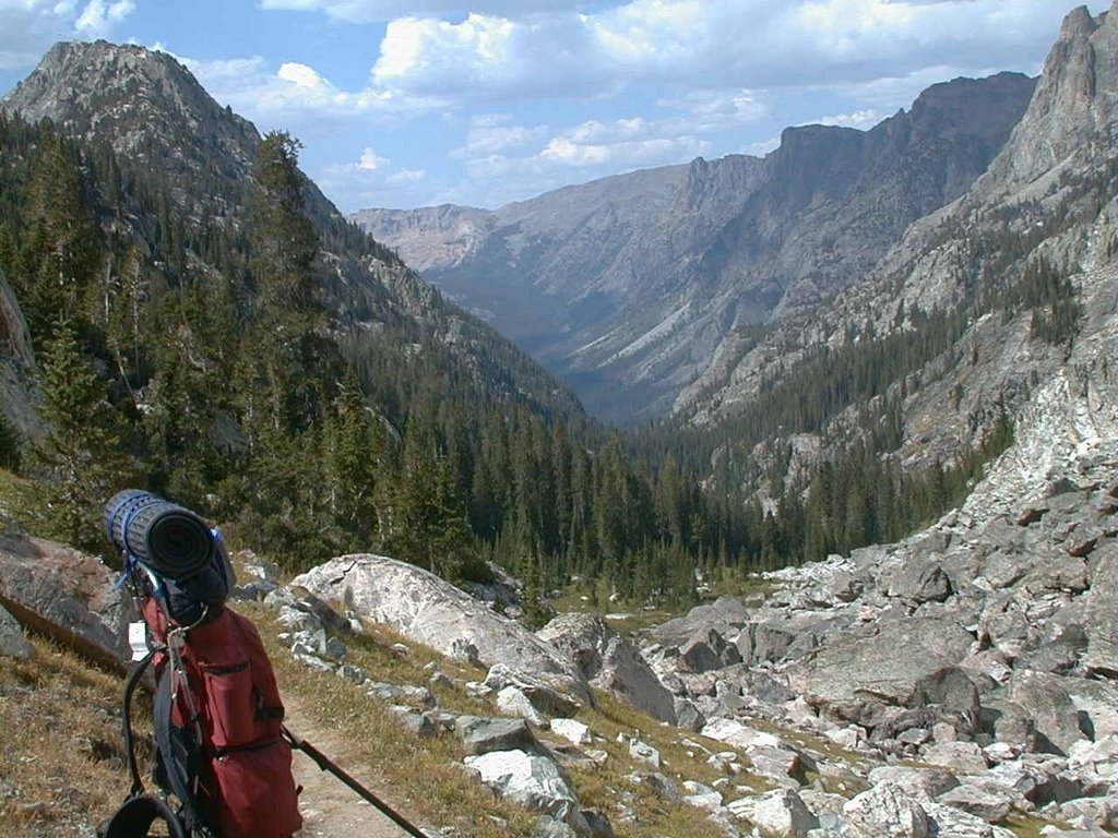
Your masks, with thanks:
M493 212L354 219L571 381L599 415L666 412L736 330L811 308L958 198L1033 82L936 85L869 132L789 128L729 156L569 187Z

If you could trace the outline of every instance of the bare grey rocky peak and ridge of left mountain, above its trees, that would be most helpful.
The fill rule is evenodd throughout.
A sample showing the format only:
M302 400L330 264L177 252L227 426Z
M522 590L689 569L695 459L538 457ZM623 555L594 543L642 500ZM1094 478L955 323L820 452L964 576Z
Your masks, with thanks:
M260 135L169 54L104 40L59 42L0 99L0 108L31 122L50 118L83 143L107 143L165 181L188 225L237 235L236 212L249 200ZM319 280L342 322L434 339L474 369L480 387L581 411L561 384L511 345L500 345L504 339L492 328L447 305L390 249L347 230L342 215L305 175L302 191L320 239Z

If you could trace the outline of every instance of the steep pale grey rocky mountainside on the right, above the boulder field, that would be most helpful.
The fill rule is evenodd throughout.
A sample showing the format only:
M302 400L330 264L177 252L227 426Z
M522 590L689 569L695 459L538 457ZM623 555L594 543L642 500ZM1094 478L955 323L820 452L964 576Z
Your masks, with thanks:
M1116 45L1118 17L1073 11L989 170L913 223L826 308L790 315L760 340L727 339L676 411L717 427L755 403L766 380L802 369L821 351L889 340L916 345L927 336L920 321L939 313L955 323L954 339L880 388L903 418L902 464L949 461L1003 413L1051 416L1038 421L1052 440L1073 432L1077 415L1112 425L1106 417L1118 401L1105 347L1115 328ZM1024 308L1006 302L1038 266L1070 285L1078 334L1069 342L1041 336L1051 301ZM817 439L849 441L855 409L833 417Z

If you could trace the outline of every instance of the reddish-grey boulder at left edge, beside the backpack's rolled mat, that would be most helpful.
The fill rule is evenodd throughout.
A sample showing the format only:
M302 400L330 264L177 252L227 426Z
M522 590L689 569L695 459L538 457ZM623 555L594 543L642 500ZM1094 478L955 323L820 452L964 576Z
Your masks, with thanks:
M0 604L107 666L131 657L130 603L100 560L40 539L0 536Z

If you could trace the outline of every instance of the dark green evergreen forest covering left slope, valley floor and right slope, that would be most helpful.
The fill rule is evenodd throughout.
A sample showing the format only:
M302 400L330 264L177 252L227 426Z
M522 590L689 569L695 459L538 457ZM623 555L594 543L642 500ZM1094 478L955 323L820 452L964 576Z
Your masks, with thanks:
M951 311L906 313L903 333L819 349L714 428L623 435L324 210L299 152L274 132L248 181L205 160L176 173L145 164L154 150L117 155L0 113L0 270L42 420L0 411L0 466L36 534L104 553L102 504L134 486L290 571L371 551L484 581L494 562L524 581L532 619L538 594L575 578L682 604L697 574L893 540L958 503L1012 422L906 472L883 456L903 431L898 382L987 311L1031 313L1053 344L1074 333L1070 284L1035 263ZM0 346L19 360L6 322ZM858 432L814 470L792 477L779 446L750 457L835 434L843 410Z

